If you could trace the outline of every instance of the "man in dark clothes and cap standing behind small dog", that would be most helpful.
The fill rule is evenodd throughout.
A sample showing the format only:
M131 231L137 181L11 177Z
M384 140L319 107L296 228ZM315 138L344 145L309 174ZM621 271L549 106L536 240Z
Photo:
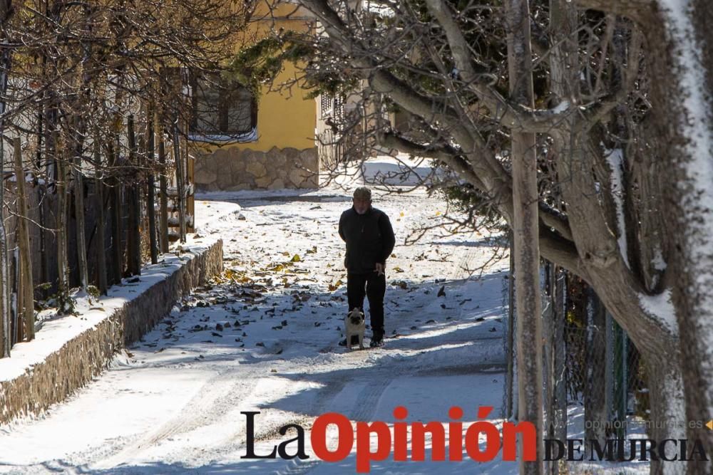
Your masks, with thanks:
M386 259L396 242L389 216L371 207L371 190L354 190L354 205L339 218L339 236L347 243L347 297L349 310L364 308L369 298L371 347L384 344L384 293ZM342 342L347 343L347 340ZM342 345L342 343L339 343Z

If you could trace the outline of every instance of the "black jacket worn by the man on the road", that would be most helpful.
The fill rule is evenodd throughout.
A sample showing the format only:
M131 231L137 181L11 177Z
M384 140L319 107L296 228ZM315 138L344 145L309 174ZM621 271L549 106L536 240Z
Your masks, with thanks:
M386 263L396 242L389 216L371 207L364 214L354 207L342 213L339 236L347 243L344 266L350 273L373 272L377 262Z

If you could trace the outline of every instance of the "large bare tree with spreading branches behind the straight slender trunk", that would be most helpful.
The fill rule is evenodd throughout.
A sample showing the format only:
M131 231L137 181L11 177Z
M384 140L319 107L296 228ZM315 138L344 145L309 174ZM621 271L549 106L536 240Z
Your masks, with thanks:
M690 216L682 212L683 206L672 210L663 199L667 184L660 172L678 163L681 175L690 167L680 164L692 160L685 159L692 157L690 150L680 150L689 142L684 131L674 133L669 126L667 134L661 133L666 113L672 102L679 117L695 117L695 111L679 100L689 92L689 78L680 78L674 88L667 88L661 78L681 77L684 68L670 66L677 61L668 55L687 51L690 38L699 41L694 51L710 54L704 29L693 22L691 34L671 34L679 43L670 48L661 31L675 33L682 27L675 26L673 13L666 13L665 1L533 1L533 105L506 95L508 81L515 78L508 73L502 28L507 22L499 2L427 1L428 11L410 1L299 3L319 20L321 29L307 37L284 33L277 49L282 58L289 58L302 48L308 84L327 93L361 95L361 105L353 108L362 111L361 118L346 120L342 130L358 122L376 150L434 157L515 227L522 211L513 205L513 168L521 154L516 142L511 147L508 140L535 135L529 149L537 151L543 177L538 194L540 252L587 281L642 353L652 392L652 437L685 437L679 337L685 333L685 340L694 343L687 345L687 354L695 348L708 355L709 330L693 331L708 313L695 313L701 315L697 320L685 310L683 302L691 296L680 283L688 281L679 277L707 276L703 267L708 261L699 252L682 251L680 256L688 257L672 271L666 265L672 249L687 248L677 244L676 233L661 231L661 216L688 216L690 225L697 219L706 222L707 210ZM701 12L696 19L707 18L710 8L704 3L687 2L687 18L693 18L694 10ZM263 64L275 68L275 62ZM267 72L259 62L254 65ZM365 87L355 89L361 81ZM384 120L388 113L396 113L399 120ZM675 183L687 182L682 177ZM709 190L697 192L705 195ZM696 233L707 236L702 230ZM699 271L691 273L688 264L694 256ZM678 322L670 303L672 289ZM689 307L702 309L706 295L701 290L695 306ZM711 358L699 360L703 362L695 365L696 375L687 376L686 387L708 387L701 386L700 378L710 375ZM698 419L700 414L710 419L706 401L694 406L707 411L698 412ZM676 472L685 464L652 463L654 473L665 467Z

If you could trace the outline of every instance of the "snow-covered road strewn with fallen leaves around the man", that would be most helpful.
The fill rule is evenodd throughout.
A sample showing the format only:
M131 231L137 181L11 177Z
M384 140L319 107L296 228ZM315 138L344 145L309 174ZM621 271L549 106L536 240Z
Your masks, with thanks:
M338 189L210 194L198 202L198 242L220 236L226 272L198 289L142 342L125 350L93 384L44 417L0 427L0 472L76 474L350 474L354 451L322 462L309 428L326 412L352 421L441 421L503 399L506 261L478 234L409 232L442 219L446 205L416 190L376 196L396 232L387 263L386 347L347 352L337 345L347 311ZM486 266L468 277L464 269ZM440 294L440 296L439 296ZM367 330L367 337L370 336ZM255 451L307 430L309 459L241 459L246 416L255 418ZM328 432L334 439L334 434ZM332 443L336 444L336 439ZM371 464L373 473L515 473L517 464ZM296 444L288 448L294 452Z

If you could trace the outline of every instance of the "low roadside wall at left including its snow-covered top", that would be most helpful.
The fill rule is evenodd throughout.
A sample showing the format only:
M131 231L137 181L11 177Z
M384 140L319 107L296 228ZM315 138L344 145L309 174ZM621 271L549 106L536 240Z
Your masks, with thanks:
M176 301L222 272L222 240L187 246L142 269L135 290L113 286L99 308L47 323L31 342L0 359L0 424L40 414L106 369L114 355L167 315ZM127 298L127 293L137 293Z

